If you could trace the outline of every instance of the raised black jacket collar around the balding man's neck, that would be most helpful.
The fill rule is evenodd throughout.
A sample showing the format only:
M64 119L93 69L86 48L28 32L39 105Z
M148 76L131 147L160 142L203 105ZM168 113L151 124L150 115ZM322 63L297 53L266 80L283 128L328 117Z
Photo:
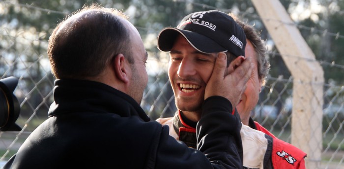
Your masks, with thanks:
M48 116L73 112L114 113L121 117L139 116L150 121L141 106L129 95L104 83L57 79L54 102Z

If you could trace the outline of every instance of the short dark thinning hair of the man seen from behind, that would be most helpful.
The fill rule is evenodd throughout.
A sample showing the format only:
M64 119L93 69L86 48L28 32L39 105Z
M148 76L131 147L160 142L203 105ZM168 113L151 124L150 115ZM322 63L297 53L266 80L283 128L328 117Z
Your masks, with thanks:
M74 18L73 16L80 15ZM104 71L119 53L132 63L129 32L121 11L97 4L84 6L57 25L49 39L48 56L56 78L84 79Z

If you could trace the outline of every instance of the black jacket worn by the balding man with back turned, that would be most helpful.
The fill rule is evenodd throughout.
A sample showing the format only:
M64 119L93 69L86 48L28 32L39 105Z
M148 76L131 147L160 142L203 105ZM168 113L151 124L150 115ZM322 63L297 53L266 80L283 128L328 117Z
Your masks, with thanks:
M223 97L204 102L200 151L175 141L132 97L105 84L56 80L54 99L49 118L4 169L242 168L240 120Z

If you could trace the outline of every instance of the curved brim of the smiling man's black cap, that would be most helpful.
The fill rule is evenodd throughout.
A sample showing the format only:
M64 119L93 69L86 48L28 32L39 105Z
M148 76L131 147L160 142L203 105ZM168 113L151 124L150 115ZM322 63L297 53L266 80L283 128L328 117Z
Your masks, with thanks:
M189 30L177 29L175 27L164 28L158 35L157 47L161 51L171 51L175 39L181 34L189 42L189 44L203 53L216 53L227 51L226 48L214 42L212 39L199 33Z

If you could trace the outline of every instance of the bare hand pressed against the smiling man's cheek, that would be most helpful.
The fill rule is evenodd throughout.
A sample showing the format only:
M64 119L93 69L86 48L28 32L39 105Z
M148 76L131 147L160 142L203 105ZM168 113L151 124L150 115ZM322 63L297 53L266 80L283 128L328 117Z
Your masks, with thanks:
M246 89L246 83L252 73L253 63L251 58L246 58L229 74L225 74L226 65L227 56L224 52L220 52L211 77L205 87L204 99L211 96L225 97L235 108Z

